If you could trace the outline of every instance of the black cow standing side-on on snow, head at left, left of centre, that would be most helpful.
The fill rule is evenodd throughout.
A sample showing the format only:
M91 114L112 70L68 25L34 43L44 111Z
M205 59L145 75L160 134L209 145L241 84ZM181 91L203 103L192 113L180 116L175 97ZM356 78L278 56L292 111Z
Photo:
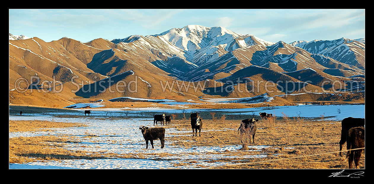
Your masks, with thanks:
M141 133L143 134L145 144L147 144L147 147L145 149L148 149L148 140L151 141L152 149L153 147L153 140L160 139L161 141L161 148L165 145L165 128L148 128L148 127L139 127L141 130Z

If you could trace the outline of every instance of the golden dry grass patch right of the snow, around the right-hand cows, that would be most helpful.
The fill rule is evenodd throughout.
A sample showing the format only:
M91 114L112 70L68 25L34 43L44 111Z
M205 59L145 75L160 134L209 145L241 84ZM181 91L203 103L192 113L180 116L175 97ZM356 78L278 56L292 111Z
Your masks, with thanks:
M273 127L266 125L264 120L257 122L257 131L255 134L255 144L248 144L249 146L271 146L263 149L261 152L222 152L214 154L228 154L238 156L238 158L218 159L217 161L226 161L234 163L248 163L243 165L226 165L217 168L224 169L243 169L243 168L272 168L272 169L346 169L348 162L343 162L342 158L338 156L339 140L341 124L339 121L310 121L303 120L303 124L297 121L288 121L275 119ZM244 119L244 118L243 118ZM286 122L288 124L286 124ZM191 125L189 122L172 121L173 124L178 124L180 130L190 130L191 132L183 135L169 137L166 141L175 141L171 145L183 147L195 146L228 146L241 145L240 134L237 133L237 128L240 125L240 120L225 120L224 123L216 122L211 119L203 119L203 129L201 137L192 137ZM175 126L175 125L174 125ZM225 131L212 131L224 130ZM228 129L229 128L229 129ZM322 128L324 128L322 130ZM345 145L344 145L345 146ZM250 149L249 149L250 150ZM345 150L345 149L343 149ZM248 154L266 153L266 158L251 158L242 159L240 156ZM327 153L324 155L316 155ZM279 154L279 155L278 155ZM346 152L343 153L343 155ZM310 156L315 155L315 156ZM295 158L301 157L302 158ZM283 160L277 160L283 159ZM237 161L236 161L237 160ZM269 161L267 161L269 160ZM188 160L185 160L186 162ZM261 163L253 163L258 162ZM263 162L265 161L265 162ZM365 168L365 154L361 155L360 168Z

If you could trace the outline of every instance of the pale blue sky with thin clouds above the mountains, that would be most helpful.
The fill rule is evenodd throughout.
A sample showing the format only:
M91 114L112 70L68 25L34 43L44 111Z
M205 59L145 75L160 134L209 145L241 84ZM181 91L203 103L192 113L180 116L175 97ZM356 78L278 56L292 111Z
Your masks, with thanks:
M365 38L365 9L9 9L9 33L46 42L154 35L222 26L266 41Z

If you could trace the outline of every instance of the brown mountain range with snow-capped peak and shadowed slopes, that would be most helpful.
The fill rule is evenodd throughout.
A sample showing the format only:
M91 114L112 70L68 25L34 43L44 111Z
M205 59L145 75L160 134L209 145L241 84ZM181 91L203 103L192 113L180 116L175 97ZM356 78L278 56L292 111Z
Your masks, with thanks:
M55 78L64 83L61 93L56 93L64 99L124 96L199 99L216 95L253 97L266 92L264 84L250 93L215 92L217 88L256 88L245 82L227 82L237 79L273 84L281 80L300 82L313 92L323 92L323 81L330 81L329 85L324 85L325 90L336 89L334 81L343 84L350 81L355 85L347 85L349 88L361 91L365 89L365 39L273 43L252 34L200 25L173 28L156 35L131 35L114 40L98 38L87 43L66 37L45 42L37 37L9 34L9 90L15 88L18 78L30 79L31 76L39 77L40 81L34 79L20 86L30 88L33 82L39 88L47 88L48 84L41 81ZM117 85L104 85L101 90L105 92L84 92L98 82L107 84L109 77L114 83L136 80L137 93L118 92ZM165 90L166 81L170 85L174 81L175 85ZM193 86L199 81L205 86L194 90ZM183 82L189 82L189 91L180 90L183 87L179 84ZM280 87L273 89L276 91ZM297 92L296 89L290 93Z

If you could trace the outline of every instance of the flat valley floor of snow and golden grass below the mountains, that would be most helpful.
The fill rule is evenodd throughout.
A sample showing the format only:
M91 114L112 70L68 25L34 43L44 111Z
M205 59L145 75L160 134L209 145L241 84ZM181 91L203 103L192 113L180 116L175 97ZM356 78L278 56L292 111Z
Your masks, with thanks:
M278 117L274 122L257 122L255 143L247 149L242 149L236 131L240 120L258 118L257 110L264 109L198 109L203 129L201 137L193 137L189 113L197 109L185 111L186 118L183 109L132 109L128 114L124 109L95 109L91 116L84 116L84 109L38 107L19 116L19 106L10 106L9 168L347 169L347 161L343 162L337 152L340 122L352 112L365 117L365 106L346 106L330 107L331 110L328 106L307 106L309 112L314 112L314 117L308 118L292 118L292 106L267 109ZM332 110L336 112L337 108L344 114L333 115ZM351 109L350 113L344 108ZM319 116L318 109L325 112L326 118ZM300 111L301 116L307 115L306 110ZM152 115L161 112L173 113L178 119L172 120L171 125L153 126ZM150 144L145 149L141 126L164 127L165 147L160 149L160 141L156 140L154 149ZM365 168L365 154L360 168Z

